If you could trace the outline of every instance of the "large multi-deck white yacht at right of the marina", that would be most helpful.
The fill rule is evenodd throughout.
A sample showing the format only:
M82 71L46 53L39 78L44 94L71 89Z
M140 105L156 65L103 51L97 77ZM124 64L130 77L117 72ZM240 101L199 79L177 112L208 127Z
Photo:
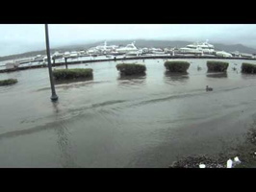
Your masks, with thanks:
M186 47L179 49L181 53L191 53L191 54L215 54L214 45L208 43L208 40L205 42L196 42L189 44Z

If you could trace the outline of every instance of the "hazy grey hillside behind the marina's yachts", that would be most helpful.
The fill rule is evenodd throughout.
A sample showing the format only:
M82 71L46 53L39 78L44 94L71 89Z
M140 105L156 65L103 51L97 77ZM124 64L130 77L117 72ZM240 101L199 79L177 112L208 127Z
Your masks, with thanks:
M159 48L171 48L171 47L185 47L188 44L191 44L192 41L181 41L181 40L145 40L145 39L137 39L136 46L139 48L142 47L159 47ZM109 40L107 41L108 45L120 45L125 46L128 43L133 42L133 40ZM248 53L248 54L256 54L256 49L253 49L251 47L244 46L242 44L233 44L233 45L226 45L221 43L214 43L210 42L211 44L215 45L216 50L224 50L227 52L234 52L239 51L241 53ZM103 41L97 41L94 43L88 43L88 44L76 44L76 45L70 45L70 46L62 46L62 47L56 47L54 49L51 49L51 53L54 53L55 51L64 52L64 51L79 51L79 50L85 50L89 49L90 47L97 46L99 44L103 44ZM46 55L45 50L40 51L33 51L33 52L27 52L23 54L15 54L11 56L5 56L0 57L1 60L16 60L20 58L27 58L27 57L34 57L37 55Z

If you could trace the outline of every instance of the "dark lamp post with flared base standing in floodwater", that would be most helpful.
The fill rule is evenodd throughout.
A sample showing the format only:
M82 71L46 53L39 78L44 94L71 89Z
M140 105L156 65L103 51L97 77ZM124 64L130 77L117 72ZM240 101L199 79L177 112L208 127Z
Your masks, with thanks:
M52 89L51 100L54 102L54 101L58 100L58 96L55 92L55 86L53 83L50 43L49 43L49 35L48 35L48 24L45 24L45 41L46 41L46 53L47 53L47 60L48 60L49 77L50 77L50 83L51 83L51 89Z

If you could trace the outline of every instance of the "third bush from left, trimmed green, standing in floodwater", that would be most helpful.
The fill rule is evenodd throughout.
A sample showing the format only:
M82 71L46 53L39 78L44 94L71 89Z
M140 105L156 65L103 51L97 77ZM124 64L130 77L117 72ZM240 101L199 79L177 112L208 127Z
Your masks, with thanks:
M116 64L116 69L124 75L135 75L144 74L146 67L144 64L122 63Z

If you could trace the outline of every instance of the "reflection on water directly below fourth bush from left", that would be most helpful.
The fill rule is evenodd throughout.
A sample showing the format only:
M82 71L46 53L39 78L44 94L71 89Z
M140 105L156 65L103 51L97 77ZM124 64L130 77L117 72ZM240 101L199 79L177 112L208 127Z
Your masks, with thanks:
M189 78L190 78L189 73L172 73L169 71L165 72L166 84L187 83Z

